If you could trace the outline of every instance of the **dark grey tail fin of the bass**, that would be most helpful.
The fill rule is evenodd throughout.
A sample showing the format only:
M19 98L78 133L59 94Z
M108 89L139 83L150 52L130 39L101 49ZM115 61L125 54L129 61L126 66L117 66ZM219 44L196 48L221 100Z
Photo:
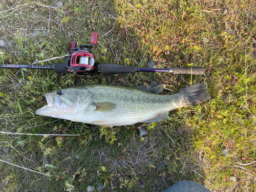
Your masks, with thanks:
M206 93L207 84L206 82L193 84L192 86L188 86L182 90L180 90L180 94L182 94L182 106L191 106L198 103L202 103L210 99L210 94Z

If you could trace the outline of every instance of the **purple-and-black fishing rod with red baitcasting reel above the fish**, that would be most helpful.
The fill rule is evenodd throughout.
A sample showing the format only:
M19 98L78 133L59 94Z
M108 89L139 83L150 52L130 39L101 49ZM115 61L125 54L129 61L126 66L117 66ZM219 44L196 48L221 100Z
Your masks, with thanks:
M0 68L14 68L14 69L45 69L54 70L55 73L70 73L73 75L84 76L91 73L102 74L119 74L119 73L136 73L136 72L166 72L174 75L177 74L192 74L203 75L205 69L202 67L191 68L136 68L131 66L121 66L109 63L96 63L95 56L90 53L96 46L98 40L98 33L92 33L90 45L77 46L76 41L70 43L70 54L65 63L55 62L53 66L49 65L0 65Z

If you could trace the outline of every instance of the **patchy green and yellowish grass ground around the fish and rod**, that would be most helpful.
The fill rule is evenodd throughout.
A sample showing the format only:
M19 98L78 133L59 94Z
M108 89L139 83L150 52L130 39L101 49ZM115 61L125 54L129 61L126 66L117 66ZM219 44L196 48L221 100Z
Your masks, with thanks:
M80 135L1 134L0 159L20 166L0 162L2 191L84 191L98 183L105 185L105 191L161 191L181 180L205 184L211 191L256 190L253 1L71 0L55 9L56 2L0 3L0 40L12 42L0 47L1 65L29 65L65 55L70 41L88 44L90 34L98 32L99 44L93 53L99 63L145 68L153 59L158 68L204 67L206 73L92 78L1 69L1 131ZM45 104L42 94L59 87L138 86L152 80L166 85L162 94L205 81L211 99L171 111L168 119L155 125L97 128L95 133L87 124L34 115ZM140 126L148 130L144 140L137 133ZM228 156L223 155L224 148ZM121 160L126 160L126 167ZM166 169L156 170L161 163Z

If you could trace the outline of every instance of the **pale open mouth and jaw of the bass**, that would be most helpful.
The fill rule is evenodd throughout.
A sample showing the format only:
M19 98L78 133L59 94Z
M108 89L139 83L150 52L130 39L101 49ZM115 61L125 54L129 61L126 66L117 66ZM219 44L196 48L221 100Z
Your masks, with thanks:
M43 115L43 116L52 116L56 115L57 112L61 110L60 105L61 101L58 97L53 96L50 93L44 94L46 98L47 105L43 106L42 108L35 111L36 115Z

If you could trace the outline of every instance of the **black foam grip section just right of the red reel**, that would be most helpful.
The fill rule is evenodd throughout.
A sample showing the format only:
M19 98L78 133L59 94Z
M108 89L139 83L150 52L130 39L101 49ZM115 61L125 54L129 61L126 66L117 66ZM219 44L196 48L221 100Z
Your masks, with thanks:
M99 64L98 70L102 74L135 73L136 67L115 64Z

